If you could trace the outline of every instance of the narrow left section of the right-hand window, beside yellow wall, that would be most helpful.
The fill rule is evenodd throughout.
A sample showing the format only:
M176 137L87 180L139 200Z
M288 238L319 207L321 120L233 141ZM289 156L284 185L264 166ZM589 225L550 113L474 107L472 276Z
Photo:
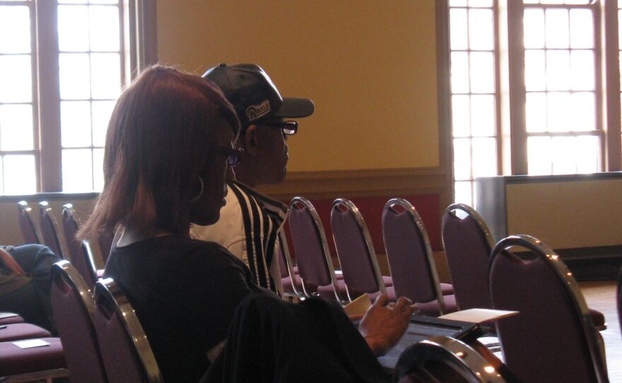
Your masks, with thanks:
M452 0L454 201L473 204L474 178L498 174L497 50L492 0Z

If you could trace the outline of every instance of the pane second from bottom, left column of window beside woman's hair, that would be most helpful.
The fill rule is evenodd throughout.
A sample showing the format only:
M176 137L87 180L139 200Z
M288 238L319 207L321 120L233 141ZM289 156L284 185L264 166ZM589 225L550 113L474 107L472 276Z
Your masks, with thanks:
M90 146L90 102L61 101L63 148Z

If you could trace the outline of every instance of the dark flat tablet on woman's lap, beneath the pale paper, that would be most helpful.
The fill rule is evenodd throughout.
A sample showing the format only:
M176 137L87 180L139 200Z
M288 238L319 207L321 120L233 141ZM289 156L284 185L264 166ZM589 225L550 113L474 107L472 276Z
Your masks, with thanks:
M423 341L430 336L444 335L459 339L464 343L469 343L479 336L486 334L488 327L480 326L473 322L461 322L450 319L440 319L435 317L424 317L423 315L413 315L406 334L401 337L397 345L389 350L385 355L378 358L378 361L387 371L393 371L399 355L413 343Z

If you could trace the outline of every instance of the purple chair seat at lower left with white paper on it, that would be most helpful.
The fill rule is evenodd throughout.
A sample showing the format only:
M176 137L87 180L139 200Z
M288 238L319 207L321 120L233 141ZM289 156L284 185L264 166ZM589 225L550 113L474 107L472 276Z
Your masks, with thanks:
M13 342L0 343L0 376L65 368L63 346L59 338L42 338L49 346L19 348Z

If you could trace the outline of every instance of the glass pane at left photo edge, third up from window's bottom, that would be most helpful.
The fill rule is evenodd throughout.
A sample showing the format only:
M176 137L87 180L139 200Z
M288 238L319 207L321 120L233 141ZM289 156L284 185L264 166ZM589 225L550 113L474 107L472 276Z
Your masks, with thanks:
M0 102L33 100L30 56L0 56Z

